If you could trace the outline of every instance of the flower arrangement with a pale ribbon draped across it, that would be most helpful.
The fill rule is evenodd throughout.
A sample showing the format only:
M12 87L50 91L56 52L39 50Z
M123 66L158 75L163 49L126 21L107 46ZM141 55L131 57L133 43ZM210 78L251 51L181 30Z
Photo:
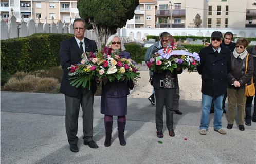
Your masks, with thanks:
M153 72L163 70L172 72L177 67L193 71L199 63L200 57L197 53L191 53L184 47L178 46L177 43L171 42L166 48L153 54L153 57L147 62L147 66Z

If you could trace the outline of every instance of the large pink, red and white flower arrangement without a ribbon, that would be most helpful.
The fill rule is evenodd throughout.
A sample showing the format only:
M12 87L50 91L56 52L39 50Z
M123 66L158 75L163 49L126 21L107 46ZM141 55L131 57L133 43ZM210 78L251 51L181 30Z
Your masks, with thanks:
M111 48L104 47L95 53L84 53L81 63L68 68L70 84L75 87L88 85L90 89L90 81L93 78L103 80L104 83L139 78L138 68L130 59L121 58L118 50L112 52Z

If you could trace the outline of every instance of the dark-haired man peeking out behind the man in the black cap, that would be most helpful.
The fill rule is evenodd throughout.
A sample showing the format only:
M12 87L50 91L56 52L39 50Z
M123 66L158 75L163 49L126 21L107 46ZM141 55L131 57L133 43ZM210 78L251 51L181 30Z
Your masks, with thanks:
M231 53L234 51L235 46L236 46L236 44L234 42L232 42L232 39L233 39L233 33L232 32L226 32L224 34L224 40L223 40L224 42L221 43L221 47L227 48L228 50L230 50ZM226 99L227 99L227 92L224 94L223 101L222 101L223 113L227 113L227 111L225 110ZM213 101L212 101L210 113L214 112L214 110L213 110Z

